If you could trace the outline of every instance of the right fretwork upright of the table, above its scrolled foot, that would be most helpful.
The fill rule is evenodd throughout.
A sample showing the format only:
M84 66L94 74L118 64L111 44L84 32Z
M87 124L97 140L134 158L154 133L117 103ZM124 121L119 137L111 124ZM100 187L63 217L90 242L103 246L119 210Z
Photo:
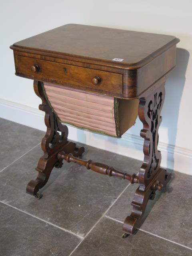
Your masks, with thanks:
M140 184L146 187L160 169L161 152L158 151L158 129L162 121L160 112L165 98L164 84L155 92L140 98L139 118L143 123L140 136L144 138L144 160L139 172Z

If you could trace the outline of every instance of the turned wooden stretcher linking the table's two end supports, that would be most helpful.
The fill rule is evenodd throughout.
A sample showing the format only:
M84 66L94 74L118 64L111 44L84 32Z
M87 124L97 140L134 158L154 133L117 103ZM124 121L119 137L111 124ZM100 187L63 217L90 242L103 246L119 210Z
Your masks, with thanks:
M100 174L105 174L108 176L116 176L116 177L120 177L120 178L129 180L132 184L139 182L138 176L136 176L136 174L131 175L131 174L127 174L124 172L120 172L106 164L94 162L92 160L83 160L83 159L74 157L71 153L66 154L63 151L61 151L58 153L58 159L59 160L64 159L68 163L74 162L74 163L84 165L87 169L91 169L94 172L98 172Z

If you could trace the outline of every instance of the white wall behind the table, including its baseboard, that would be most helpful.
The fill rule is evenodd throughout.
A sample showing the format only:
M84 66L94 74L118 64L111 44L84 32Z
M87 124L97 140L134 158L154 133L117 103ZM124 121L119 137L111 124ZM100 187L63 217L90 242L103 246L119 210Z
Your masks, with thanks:
M192 1L191 0L6 0L0 2L0 117L45 129L32 80L14 75L9 46L68 23L169 34L180 38L176 69L166 82L159 148L162 165L192 174ZM158 67L157 67L158 68ZM70 128L70 138L142 159L140 121L122 139Z

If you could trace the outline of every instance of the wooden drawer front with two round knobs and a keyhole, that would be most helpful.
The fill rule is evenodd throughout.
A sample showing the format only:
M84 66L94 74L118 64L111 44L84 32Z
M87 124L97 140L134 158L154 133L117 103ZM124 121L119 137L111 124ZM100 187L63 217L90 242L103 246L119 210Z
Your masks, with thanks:
M122 97L121 74L18 56L16 75Z

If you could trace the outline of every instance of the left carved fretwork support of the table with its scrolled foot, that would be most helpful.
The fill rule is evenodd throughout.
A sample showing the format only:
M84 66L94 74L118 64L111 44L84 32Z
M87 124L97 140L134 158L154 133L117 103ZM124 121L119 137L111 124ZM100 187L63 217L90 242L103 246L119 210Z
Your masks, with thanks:
M44 95L42 82L34 80L34 91L42 100L39 109L45 112L47 131L41 143L44 155L39 159L36 168L38 177L36 180L31 180L28 183L26 192L39 198L37 192L47 183L54 166L57 168L62 167L62 160L58 160L57 157L58 152L64 150L64 152L72 153L74 156L80 156L84 152L84 147L78 148L74 142L68 141L68 128L66 125L61 124L51 107L48 105Z

